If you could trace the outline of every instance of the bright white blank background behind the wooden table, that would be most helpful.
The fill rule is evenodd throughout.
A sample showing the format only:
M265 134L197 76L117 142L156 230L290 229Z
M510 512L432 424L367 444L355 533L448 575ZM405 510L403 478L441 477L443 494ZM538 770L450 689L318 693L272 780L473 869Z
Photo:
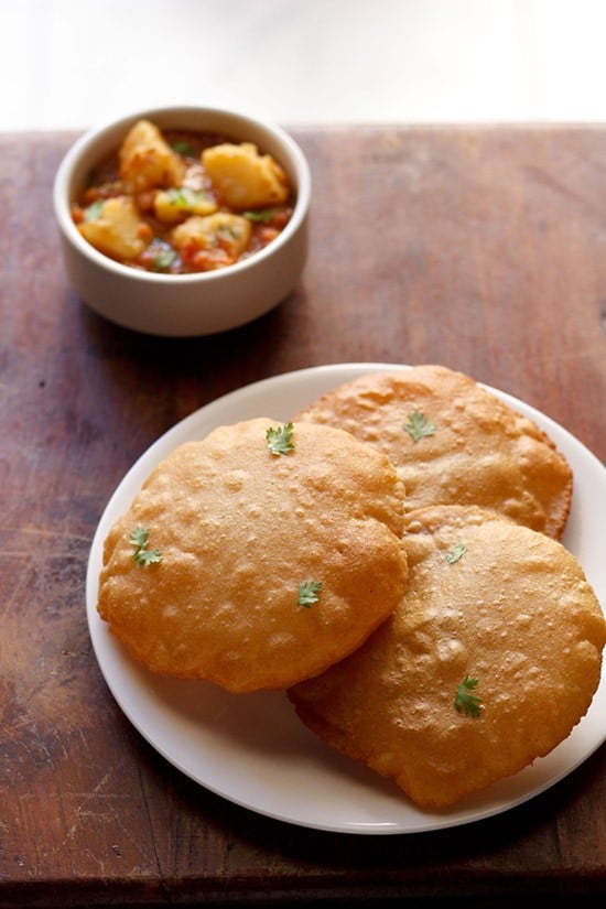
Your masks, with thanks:
M606 121L606 0L0 0L0 130Z

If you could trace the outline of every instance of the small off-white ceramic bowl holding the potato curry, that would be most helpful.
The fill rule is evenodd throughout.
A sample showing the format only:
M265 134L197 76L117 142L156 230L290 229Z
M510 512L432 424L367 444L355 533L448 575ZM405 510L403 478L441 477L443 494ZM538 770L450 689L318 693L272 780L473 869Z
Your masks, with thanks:
M197 274L139 271L96 250L79 234L71 203L91 169L117 149L142 118L161 129L215 131L253 142L284 169L296 193L291 220L267 247L240 262ZM62 161L53 186L67 277L82 300L111 322L153 335L225 332L277 306L296 285L307 255L311 175L303 152L280 127L244 113L204 107L143 110L91 129Z

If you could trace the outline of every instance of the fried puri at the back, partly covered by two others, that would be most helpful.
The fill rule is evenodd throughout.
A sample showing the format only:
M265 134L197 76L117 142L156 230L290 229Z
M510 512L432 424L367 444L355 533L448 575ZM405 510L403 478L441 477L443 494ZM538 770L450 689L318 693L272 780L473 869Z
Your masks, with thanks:
M566 459L532 420L461 372L423 365L366 375L297 419L340 426L387 454L408 510L478 505L562 535L573 486Z

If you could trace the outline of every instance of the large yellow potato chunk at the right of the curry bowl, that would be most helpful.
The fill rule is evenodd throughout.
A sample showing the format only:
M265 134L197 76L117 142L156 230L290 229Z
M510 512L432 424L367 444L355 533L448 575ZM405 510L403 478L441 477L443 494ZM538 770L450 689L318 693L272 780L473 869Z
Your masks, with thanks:
M282 167L271 155L260 155L251 142L214 145L202 153L202 163L231 208L266 208L289 197Z

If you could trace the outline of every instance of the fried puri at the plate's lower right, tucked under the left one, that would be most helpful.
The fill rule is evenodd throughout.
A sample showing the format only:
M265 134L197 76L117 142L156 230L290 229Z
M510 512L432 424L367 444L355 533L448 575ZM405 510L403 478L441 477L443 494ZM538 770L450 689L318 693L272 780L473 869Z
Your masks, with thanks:
M465 507L414 512L409 584L354 654L290 692L303 722L423 808L547 755L586 713L606 627L561 543Z

